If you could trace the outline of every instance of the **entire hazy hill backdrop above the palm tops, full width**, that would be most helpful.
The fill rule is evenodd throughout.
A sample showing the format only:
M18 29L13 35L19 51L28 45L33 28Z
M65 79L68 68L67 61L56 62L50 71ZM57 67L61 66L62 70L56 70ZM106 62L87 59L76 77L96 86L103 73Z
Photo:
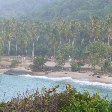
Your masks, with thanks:
M87 20L112 15L111 0L0 0L0 17Z

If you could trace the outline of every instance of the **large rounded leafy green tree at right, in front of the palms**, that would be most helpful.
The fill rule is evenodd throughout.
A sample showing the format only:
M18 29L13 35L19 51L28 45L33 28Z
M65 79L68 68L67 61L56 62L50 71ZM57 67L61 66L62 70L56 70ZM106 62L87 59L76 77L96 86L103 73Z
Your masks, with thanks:
M102 67L103 61L106 58L107 60L111 59L112 56L112 48L100 41L90 44L87 48L87 52L89 61L92 63L94 68L95 65ZM107 68L107 66L108 65L105 63L104 68Z

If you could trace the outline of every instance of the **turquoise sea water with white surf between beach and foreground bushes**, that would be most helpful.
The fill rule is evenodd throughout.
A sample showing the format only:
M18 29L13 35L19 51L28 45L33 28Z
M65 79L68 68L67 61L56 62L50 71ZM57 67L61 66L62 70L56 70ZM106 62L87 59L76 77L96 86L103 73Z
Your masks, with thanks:
M63 91L66 84L72 84L77 91L89 91L91 94L99 92L101 96L108 96L108 100L112 100L112 85L91 83L88 81L72 80L71 78L47 78L36 77L30 75L11 76L0 75L0 102L10 101L16 98L18 94L24 96L26 91L32 94L35 90L41 91L43 88L52 88L60 85L58 91Z

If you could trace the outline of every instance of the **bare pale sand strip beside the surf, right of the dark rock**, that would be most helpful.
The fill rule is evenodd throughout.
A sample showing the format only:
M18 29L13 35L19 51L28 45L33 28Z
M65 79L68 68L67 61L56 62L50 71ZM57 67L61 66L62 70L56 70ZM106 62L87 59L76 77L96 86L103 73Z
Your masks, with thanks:
M112 84L112 77L108 75L93 76L93 72L78 73L78 72L52 72L46 75L47 77L71 77L80 81L100 82L106 84Z

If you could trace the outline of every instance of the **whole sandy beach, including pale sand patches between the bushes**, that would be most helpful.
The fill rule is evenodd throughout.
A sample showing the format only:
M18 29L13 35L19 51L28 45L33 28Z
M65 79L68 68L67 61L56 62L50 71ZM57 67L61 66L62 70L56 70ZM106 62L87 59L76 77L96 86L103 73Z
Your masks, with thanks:
M3 63L4 64L4 63ZM6 64L6 63L5 63ZM32 72L31 70L28 70L27 68L29 67L29 65L32 63L28 63L27 61L22 63L20 66L16 67L16 68L6 68L6 69L0 69L0 73L5 73L5 72L9 72L10 75L18 75L18 74L29 74L30 75L36 75L36 76L46 76L46 77L50 77L50 78L61 78L61 77L71 77L72 79L77 79L80 81L90 81L90 82L100 82L100 83L107 83L107 84L112 84L112 77L109 77L108 74L105 75L94 75L93 76L93 72L90 71L85 71L85 72L69 72L69 71L63 71L63 72ZM46 64L46 66L49 67L54 67L56 65L55 62L51 62L48 61ZM65 64L65 67L70 67L69 63ZM88 68L90 66L85 65L85 68ZM7 73L8 74L8 73ZM112 76L112 75L111 75Z

